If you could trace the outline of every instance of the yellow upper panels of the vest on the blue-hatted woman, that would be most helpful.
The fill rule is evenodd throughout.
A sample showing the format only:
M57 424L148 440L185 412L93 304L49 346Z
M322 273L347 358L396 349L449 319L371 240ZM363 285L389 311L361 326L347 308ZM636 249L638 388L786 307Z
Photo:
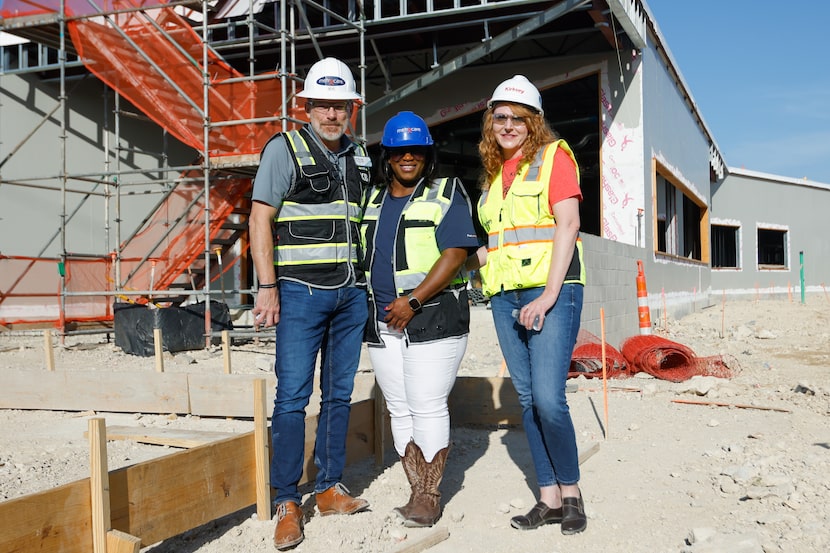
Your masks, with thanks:
M469 205L464 187L456 182L456 179L436 179L430 186L426 185L426 181L422 181L403 208L395 233L395 254L392 260L398 296L406 295L414 290L426 278L435 261L441 257L435 238L435 229L449 210L455 192L464 194ZM361 233L364 251L368 256L364 269L370 287L377 221L387 193L386 187L370 191L369 201L363 214ZM466 282L464 275L459 273L450 283L450 287L464 282Z

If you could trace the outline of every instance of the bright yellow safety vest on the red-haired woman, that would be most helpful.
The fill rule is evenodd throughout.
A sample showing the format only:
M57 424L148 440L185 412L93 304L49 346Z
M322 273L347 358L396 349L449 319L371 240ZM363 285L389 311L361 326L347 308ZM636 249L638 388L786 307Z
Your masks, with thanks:
M540 150L532 163L519 167L506 197L501 192L501 173L481 195L478 217L487 231L487 263L481 268L481 278L482 291L488 296L547 283L556 232L549 187L557 148L571 156L576 165L567 143L558 140ZM585 284L579 238L565 282Z

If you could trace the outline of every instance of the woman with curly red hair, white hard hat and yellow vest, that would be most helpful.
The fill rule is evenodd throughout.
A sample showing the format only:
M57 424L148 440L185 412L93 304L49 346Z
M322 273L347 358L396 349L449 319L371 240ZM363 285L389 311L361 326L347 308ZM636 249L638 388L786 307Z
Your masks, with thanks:
M488 243L473 259L482 264L482 289L522 406L539 486L536 505L510 524L519 530L560 524L563 534L575 534L588 524L565 396L585 286L579 169L523 75L496 87L478 149L484 165L478 216Z

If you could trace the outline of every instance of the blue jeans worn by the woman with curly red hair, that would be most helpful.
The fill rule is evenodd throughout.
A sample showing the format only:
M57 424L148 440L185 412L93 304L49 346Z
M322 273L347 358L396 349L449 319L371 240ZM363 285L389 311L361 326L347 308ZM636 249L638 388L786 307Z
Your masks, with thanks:
M579 482L565 383L582 313L581 284L564 284L541 331L527 330L511 312L538 298L543 288L511 290L490 298L496 335L522 406L522 424L540 488Z

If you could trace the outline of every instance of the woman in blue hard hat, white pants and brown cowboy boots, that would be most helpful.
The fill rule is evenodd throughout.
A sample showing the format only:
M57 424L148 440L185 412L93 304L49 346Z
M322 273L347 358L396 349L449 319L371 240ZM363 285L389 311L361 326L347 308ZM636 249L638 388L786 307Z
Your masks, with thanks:
M461 181L436 175L436 148L421 117L390 118L381 147L361 226L365 338L411 487L395 511L406 526L432 526L449 453L447 398L470 328L463 265L479 242Z

